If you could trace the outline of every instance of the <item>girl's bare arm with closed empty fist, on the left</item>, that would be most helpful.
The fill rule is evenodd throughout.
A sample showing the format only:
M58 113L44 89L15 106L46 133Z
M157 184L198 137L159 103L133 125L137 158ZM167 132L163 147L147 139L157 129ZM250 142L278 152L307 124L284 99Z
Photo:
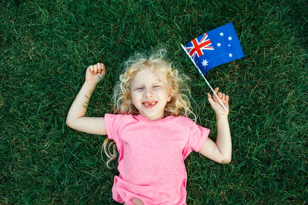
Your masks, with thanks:
M68 127L90 134L107 135L104 117L85 117L91 94L104 72L105 66L101 63L87 68L85 83L67 114L66 125Z

